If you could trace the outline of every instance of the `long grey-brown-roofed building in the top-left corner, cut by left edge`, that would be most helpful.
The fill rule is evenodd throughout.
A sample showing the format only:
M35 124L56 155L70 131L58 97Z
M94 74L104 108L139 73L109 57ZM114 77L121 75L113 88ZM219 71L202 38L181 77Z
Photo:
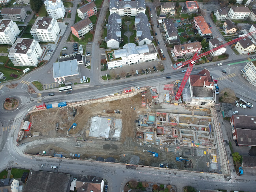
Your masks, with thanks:
M28 17L24 8L2 8L2 19L11 19L13 21L24 22Z

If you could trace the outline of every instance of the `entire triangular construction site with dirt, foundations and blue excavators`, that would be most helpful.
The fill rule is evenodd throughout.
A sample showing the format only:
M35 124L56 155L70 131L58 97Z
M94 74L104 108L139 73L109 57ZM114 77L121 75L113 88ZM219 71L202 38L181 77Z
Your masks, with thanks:
M34 109L17 143L34 155L220 173L211 111L173 103L178 83L166 85Z

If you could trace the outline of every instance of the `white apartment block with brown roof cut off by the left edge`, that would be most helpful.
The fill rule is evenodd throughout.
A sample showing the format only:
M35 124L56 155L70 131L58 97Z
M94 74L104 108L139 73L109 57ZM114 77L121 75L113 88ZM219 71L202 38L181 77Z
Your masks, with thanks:
M19 27L12 20L0 20L0 44L13 45L20 32Z

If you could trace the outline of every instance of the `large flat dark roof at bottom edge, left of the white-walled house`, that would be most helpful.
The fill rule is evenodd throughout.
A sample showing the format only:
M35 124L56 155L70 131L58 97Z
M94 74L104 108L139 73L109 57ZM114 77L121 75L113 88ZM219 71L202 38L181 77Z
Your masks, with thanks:
M51 173L46 171L30 171L24 192L64 192L68 189L69 179L69 174Z

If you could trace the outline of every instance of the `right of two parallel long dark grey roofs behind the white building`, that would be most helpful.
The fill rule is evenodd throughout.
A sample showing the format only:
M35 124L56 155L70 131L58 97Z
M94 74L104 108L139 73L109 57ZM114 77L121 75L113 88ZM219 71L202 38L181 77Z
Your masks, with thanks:
M144 13L137 14L135 16L135 24L137 27L137 38L139 39L139 41L145 39L152 41L147 15L145 15Z

